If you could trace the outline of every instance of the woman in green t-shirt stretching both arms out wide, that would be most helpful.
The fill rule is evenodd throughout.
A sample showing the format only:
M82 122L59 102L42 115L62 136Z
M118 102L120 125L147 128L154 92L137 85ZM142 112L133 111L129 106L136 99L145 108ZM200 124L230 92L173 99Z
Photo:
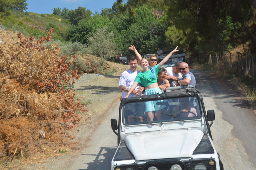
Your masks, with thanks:
M138 83L142 84L143 87L145 87L145 95L150 95L150 94L161 94L162 91L158 87L157 84L157 73L161 70L162 65L172 56L174 52L177 52L178 46L170 52L164 59L154 67L151 67L148 69L149 62L146 58L142 58L140 61L140 66L142 67L143 71L140 72L133 85L131 86L129 92L125 96L127 98L133 90L137 87ZM145 112L147 114L147 120L148 121L153 121L154 115L152 111L156 111L156 117L158 120L162 119L162 115L159 112L159 110L163 109L162 106L156 105L157 101L151 101L151 102L145 102Z

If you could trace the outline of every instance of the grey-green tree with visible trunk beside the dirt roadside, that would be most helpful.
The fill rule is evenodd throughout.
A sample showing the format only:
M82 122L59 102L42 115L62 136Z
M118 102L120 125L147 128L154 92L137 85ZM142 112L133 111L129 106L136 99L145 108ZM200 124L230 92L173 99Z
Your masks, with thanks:
M97 29L92 37L88 38L90 43L89 50L94 56L100 57L98 61L99 72L103 73L104 62L106 59L116 54L113 32L108 33L108 28L103 27Z

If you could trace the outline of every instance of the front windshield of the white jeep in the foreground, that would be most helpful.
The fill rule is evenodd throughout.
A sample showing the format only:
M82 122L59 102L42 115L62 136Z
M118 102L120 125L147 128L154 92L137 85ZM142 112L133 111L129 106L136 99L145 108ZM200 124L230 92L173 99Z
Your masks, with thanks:
M153 113L147 112L148 108L154 108ZM159 122L173 122L200 119L201 109L196 97L177 97L163 100L147 100L126 103L123 107L123 124L138 125L151 124ZM152 110L152 109L151 109ZM153 121L150 121L150 114L154 115Z

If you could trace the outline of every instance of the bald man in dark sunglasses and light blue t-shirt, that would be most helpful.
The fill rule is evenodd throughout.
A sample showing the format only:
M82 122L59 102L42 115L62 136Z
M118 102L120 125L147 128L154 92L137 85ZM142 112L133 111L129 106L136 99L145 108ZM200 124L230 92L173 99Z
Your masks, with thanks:
M177 83L180 85L192 85L196 87L196 79L193 73L189 71L189 66L186 62L180 63L179 66L180 73L183 74L181 80L178 80Z

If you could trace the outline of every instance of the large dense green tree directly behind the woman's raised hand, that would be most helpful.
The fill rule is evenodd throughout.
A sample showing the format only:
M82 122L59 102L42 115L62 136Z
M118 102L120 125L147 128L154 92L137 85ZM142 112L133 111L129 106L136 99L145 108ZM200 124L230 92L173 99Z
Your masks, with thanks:
M165 25L145 7L135 9L135 16L125 14L111 22L117 49L123 55L134 54L128 49L131 44L142 54L156 53L157 47L165 43Z

